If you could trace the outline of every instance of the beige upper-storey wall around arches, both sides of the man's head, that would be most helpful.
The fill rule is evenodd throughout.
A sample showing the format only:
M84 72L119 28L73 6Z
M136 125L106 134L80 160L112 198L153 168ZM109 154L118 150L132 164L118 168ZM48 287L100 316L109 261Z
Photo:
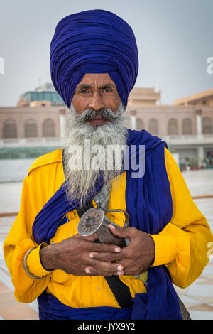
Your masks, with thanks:
M43 122L45 119L51 119L55 127L55 136L60 137L60 107L0 107L0 138L4 138L4 122L7 119L13 119L16 122L17 138L25 137L25 124L28 119L34 119L37 124L38 138L43 137ZM144 129L151 131L151 124L155 123L158 127L159 136L170 135L169 122L170 119L174 119L177 123L177 134L183 135L182 124L184 119L189 119L191 122L191 131L188 134L197 134L197 121L195 106L173 106L173 105L155 105L146 107L129 106L127 107L127 113L131 118L131 110L136 110L136 119L140 120L138 124L141 124ZM210 127L212 124L213 134L213 106L203 106L202 119L205 119L205 123ZM65 109L65 117L67 117L68 109ZM155 121L153 121L155 120ZM143 122L142 122L143 121ZM129 122L131 126L131 122ZM142 129L138 125L138 130Z

